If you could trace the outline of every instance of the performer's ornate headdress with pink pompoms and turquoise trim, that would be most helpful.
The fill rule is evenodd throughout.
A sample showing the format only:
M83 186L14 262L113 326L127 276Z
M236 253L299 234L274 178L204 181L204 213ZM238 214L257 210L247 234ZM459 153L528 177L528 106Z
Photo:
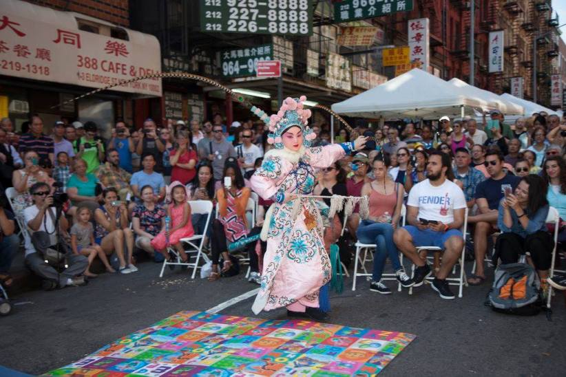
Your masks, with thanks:
M305 96L300 98L287 97L277 114L273 114L271 117L267 116L262 109L255 106L251 107L251 112L259 116L266 125L269 125L270 133L267 136L267 142L273 144L273 147L283 148L281 136L289 127L293 126L297 126L303 131L304 147L311 147L311 140L316 138L316 134L307 126L308 118L311 118L311 110L304 109L304 101L306 101Z

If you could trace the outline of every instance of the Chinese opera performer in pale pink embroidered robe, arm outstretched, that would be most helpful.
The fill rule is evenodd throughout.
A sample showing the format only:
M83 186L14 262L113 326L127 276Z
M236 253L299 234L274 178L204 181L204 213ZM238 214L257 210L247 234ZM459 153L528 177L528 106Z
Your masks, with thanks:
M319 169L362 149L367 138L311 148L316 135L306 127L311 111L303 109L305 100L305 96L286 98L280 111L271 116L268 142L275 148L266 153L251 177L253 191L275 200L262 229L267 251L252 310L258 314L286 307L289 316L320 321L328 316L317 309L318 292L331 279L331 263L324 250L324 226L317 204L297 195L312 195Z

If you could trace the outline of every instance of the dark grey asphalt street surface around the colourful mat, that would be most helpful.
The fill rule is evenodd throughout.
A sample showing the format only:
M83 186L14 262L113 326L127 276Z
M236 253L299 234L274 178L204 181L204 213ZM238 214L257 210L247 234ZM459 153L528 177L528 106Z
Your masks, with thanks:
M191 280L186 270L165 272L140 264L134 274L102 274L84 287L40 290L12 297L17 305L0 318L0 365L41 374L72 363L121 336L182 310L207 310L258 286L243 275L209 282ZM355 292L346 278L342 294L331 296L331 323L416 334L384 376L565 376L566 308L553 301L552 321L492 312L483 306L487 283L464 289L462 299L445 301L430 286L370 292L358 279ZM388 282L390 288L393 283ZM253 297L222 314L253 316ZM284 310L262 312L284 319Z

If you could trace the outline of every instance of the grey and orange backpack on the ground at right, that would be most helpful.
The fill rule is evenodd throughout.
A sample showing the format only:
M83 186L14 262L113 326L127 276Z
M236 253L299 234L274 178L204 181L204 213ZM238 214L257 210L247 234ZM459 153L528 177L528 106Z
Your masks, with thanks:
M500 313L532 316L542 308L541 282L526 263L499 265L486 305Z

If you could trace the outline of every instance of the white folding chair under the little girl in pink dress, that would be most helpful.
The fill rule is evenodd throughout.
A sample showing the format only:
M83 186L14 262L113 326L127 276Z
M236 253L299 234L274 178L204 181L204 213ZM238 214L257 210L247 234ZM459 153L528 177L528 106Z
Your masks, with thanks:
M173 266L187 266L187 268L193 268L193 274L191 275L191 279L195 278L198 262L200 261L200 257L205 260L205 263L209 261L207 255L202 252L202 246L205 245L205 238L207 235L207 229L209 227L210 217L212 214L212 202L210 200L191 200L189 201L189 205L191 206L191 214L193 213L200 213L202 215L207 215L207 222L205 224L205 231L202 235L193 235L192 237L186 237L180 239L182 244L187 244L189 248L185 247L185 252L187 253L187 262L182 262L180 259L180 255L177 252L176 248L167 247L167 251L171 252L176 257L176 261L169 262L167 258L163 261L163 266L161 266L161 272L159 277L163 277L163 271L165 271L165 266L173 265ZM190 219L189 219L190 220ZM196 254L196 255L195 255ZM190 258L191 256L195 257L194 263L191 263Z

